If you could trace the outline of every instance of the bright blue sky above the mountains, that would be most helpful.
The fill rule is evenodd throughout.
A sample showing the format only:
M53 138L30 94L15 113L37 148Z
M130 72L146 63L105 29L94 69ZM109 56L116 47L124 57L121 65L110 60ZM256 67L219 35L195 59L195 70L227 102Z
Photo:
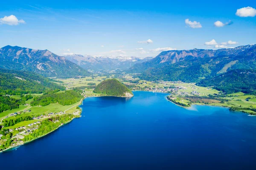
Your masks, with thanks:
M255 8L253 0L5 1L0 6L0 47L109 57L231 48L256 43Z

